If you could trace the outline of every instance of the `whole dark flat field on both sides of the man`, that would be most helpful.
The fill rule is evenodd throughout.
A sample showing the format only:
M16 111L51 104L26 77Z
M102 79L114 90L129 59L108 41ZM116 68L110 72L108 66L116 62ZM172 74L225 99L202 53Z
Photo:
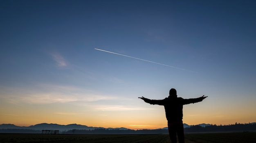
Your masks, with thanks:
M256 143L256 132L185 134L186 143ZM0 134L0 143L171 143L168 134Z

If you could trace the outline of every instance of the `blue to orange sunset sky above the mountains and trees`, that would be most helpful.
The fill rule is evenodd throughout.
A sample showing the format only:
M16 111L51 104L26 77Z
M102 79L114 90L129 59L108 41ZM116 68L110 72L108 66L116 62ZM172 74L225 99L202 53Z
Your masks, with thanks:
M184 105L183 123L256 122L255 5L1 0L0 124L164 128L164 107L138 97L171 88L208 96Z

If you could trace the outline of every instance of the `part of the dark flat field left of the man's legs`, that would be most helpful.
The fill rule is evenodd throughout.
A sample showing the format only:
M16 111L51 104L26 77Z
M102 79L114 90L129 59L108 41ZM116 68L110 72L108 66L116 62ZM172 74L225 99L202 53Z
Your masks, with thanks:
M0 134L0 143L170 143L168 134Z

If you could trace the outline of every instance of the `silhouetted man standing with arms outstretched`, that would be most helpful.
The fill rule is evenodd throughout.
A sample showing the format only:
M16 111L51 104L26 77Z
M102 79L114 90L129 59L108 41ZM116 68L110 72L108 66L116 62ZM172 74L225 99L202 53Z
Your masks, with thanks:
M163 100L150 100L142 96L142 100L149 104L163 105L165 109L166 119L168 121L168 132L172 143L177 143L176 134L179 139L179 143L185 143L184 128L182 122L182 108L185 104L191 104L201 102L208 96L204 95L200 98L183 99L177 97L176 89L171 89L168 98Z

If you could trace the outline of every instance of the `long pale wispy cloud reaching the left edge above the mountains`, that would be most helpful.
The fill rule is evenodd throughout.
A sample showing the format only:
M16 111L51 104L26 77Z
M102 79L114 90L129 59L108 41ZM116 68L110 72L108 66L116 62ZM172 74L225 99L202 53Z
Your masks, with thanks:
M67 102L95 102L99 100L115 100L111 95L99 95L92 91L72 86L38 84L33 88L4 88L0 98L12 104L50 104Z

